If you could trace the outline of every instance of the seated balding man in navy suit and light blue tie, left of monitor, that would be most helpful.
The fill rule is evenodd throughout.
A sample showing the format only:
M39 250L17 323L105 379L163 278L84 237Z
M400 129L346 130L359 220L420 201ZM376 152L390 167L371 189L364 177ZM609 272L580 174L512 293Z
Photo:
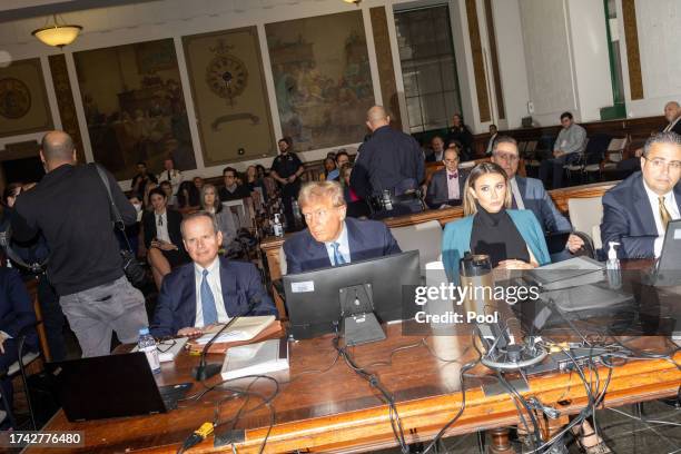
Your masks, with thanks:
M164 278L154 336L196 336L237 315L276 315L255 266L218 257L223 234L210 214L187 216L182 240L193 263Z

